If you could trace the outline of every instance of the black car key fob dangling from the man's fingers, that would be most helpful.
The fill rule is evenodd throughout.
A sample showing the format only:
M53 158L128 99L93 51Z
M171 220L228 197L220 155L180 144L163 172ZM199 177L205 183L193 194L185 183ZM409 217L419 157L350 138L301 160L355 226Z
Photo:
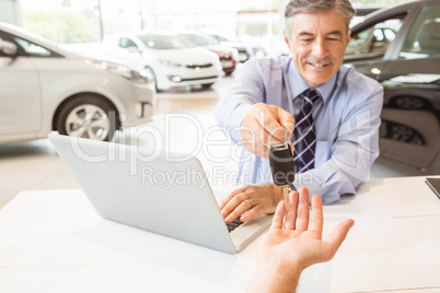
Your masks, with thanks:
M269 165L274 183L282 186L283 198L286 207L289 208L289 192L297 190L293 185L294 181L294 163L292 151L287 142L289 132L286 129L286 138L279 144L270 146L269 150Z

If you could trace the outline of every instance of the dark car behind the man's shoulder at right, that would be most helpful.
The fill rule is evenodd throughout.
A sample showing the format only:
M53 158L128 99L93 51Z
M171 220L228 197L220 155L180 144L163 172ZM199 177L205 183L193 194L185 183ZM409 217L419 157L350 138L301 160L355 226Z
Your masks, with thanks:
M382 37L374 33L379 28ZM362 37L370 44L358 54L347 51L345 61L384 86L381 157L413 175L439 174L440 1L375 11L352 27L350 43Z

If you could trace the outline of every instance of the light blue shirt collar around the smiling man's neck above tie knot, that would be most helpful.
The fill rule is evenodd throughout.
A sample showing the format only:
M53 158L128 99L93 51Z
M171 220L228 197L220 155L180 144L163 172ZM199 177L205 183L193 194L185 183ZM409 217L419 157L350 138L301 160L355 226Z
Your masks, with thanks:
M339 71L338 71L339 72ZM327 99L333 92L333 89L336 85L336 79L337 74L334 74L326 83L322 84L321 86L313 89L317 90L322 96L322 98L325 101ZM292 59L290 59L289 62L289 69L288 69L288 79L290 83L290 89L292 89L292 97L296 98L298 95L300 95L302 92L305 90L309 90L309 85L305 83L305 81L302 79L300 72L298 72L297 68L294 67Z

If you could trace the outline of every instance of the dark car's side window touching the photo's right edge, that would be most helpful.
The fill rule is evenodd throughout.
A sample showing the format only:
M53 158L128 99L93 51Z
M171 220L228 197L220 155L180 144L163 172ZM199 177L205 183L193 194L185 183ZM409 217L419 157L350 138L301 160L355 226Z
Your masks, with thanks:
M440 55L440 5L422 9L406 38L400 58Z

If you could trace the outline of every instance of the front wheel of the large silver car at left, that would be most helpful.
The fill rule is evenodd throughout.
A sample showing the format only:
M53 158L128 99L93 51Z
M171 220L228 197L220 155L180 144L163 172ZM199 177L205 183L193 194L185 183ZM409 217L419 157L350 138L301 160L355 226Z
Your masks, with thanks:
M60 108L56 129L60 134L109 141L119 122L109 102L93 95L81 95Z

